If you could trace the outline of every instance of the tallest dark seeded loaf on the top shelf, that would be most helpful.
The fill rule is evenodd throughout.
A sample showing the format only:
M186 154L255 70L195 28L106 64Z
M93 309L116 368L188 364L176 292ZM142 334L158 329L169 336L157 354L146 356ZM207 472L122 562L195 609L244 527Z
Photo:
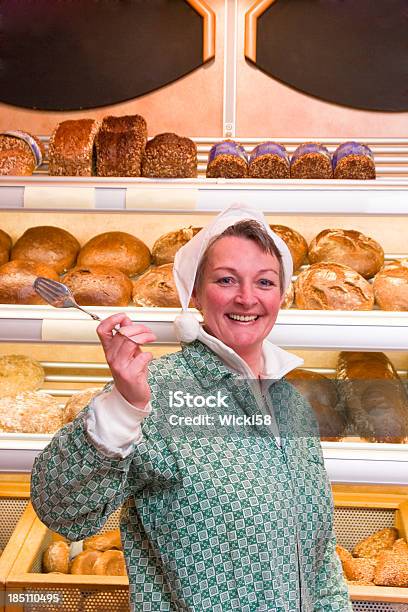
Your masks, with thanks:
M98 176L140 176L147 142L141 115L104 117L95 138Z

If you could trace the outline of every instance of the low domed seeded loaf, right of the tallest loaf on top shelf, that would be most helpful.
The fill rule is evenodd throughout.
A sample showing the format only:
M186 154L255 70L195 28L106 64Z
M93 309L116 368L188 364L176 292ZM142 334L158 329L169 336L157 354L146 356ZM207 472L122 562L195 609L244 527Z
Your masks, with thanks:
M151 178L195 178L197 146L190 138L170 132L158 134L146 144L142 176Z

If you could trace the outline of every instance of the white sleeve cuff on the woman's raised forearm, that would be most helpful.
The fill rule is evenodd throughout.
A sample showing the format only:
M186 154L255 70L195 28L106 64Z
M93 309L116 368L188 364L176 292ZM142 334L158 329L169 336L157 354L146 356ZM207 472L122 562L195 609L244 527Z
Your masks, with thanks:
M88 438L104 455L125 458L133 444L141 441L140 425L150 411L150 402L143 410L136 408L113 386L91 402L85 421Z

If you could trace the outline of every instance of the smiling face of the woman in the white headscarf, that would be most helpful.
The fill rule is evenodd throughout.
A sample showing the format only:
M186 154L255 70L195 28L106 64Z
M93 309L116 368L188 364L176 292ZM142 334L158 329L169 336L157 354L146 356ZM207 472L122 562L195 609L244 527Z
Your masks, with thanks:
M279 262L253 240L221 238L208 253L194 298L210 334L238 354L259 350L281 303Z

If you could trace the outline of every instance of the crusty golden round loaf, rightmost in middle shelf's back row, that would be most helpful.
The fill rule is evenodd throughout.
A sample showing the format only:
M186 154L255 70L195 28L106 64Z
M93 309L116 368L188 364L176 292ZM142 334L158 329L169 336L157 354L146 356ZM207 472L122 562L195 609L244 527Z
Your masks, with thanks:
M340 263L371 278L384 264L384 251L378 242L356 230L326 229L310 243L309 261Z

